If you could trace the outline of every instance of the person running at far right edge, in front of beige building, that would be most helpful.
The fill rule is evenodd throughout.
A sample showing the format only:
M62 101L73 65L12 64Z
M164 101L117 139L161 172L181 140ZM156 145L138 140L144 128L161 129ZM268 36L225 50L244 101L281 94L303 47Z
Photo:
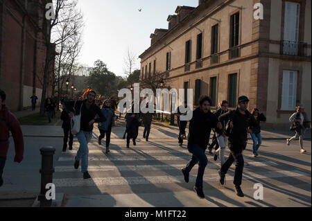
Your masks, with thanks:
M297 108L297 112L295 112L291 117L289 118L289 121L292 122L291 130L294 130L296 132L295 136L291 137L291 139L286 139L287 145L291 144L291 141L294 139L299 138L299 144L300 144L300 152L304 153L306 150L304 150L303 147L303 139L304 139L304 132L306 129L311 128L311 121L309 121L309 118L304 112L304 105L299 105Z

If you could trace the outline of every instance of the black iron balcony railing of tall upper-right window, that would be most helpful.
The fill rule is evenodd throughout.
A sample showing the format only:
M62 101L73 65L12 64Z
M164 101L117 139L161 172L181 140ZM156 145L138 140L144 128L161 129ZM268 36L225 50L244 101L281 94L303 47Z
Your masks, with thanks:
M281 41L281 55L306 56L308 44L304 42Z

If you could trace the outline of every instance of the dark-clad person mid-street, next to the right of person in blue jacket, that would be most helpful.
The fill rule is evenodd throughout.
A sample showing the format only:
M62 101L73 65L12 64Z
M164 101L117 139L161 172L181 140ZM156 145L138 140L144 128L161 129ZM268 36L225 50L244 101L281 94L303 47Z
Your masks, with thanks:
M133 145L137 145L135 139L139 133L139 125L141 125L139 114L134 113L134 105L132 104L132 113L125 114L126 132L127 132L127 148L130 148L130 139L133 141Z

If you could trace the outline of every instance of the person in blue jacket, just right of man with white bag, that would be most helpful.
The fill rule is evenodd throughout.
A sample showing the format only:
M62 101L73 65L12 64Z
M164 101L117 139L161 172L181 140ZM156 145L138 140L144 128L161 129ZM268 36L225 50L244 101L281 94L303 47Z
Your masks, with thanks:
M117 116L115 115L114 109L111 107L111 101L109 99L104 100L103 105L101 106L101 112L106 118L105 122L98 124L98 130L100 131L100 136L98 136L98 144L102 144L102 139L106 134L106 153L110 152L110 134L112 133L112 125L116 121Z

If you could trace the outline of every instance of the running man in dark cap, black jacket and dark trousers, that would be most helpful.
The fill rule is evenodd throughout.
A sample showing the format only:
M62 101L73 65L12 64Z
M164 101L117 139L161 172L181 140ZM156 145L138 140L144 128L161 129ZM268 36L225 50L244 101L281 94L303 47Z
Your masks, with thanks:
M246 96L239 97L239 107L236 110L232 110L223 114L219 117L219 121L229 121L229 128L227 128L227 136L229 136L227 145L230 150L229 157L227 161L223 163L223 166L218 171L220 175L220 184L225 183L225 174L229 167L234 161L236 161L235 175L234 175L234 185L236 195L243 197L243 191L241 191L241 180L243 177L243 150L245 150L247 145L247 134L252 134L250 127L254 126L254 117L248 112L249 99Z

